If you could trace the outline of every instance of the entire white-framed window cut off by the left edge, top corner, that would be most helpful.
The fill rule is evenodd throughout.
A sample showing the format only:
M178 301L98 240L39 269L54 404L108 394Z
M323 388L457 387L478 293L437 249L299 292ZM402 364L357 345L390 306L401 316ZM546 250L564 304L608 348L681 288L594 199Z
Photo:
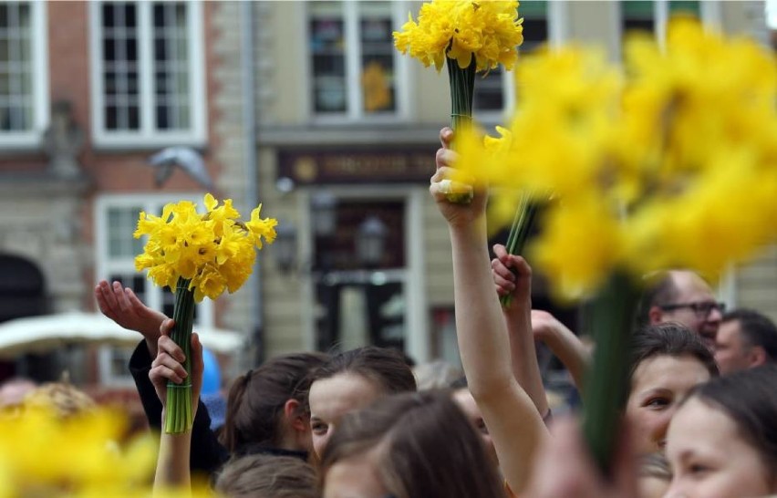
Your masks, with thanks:
M0 145L35 147L48 121L46 4L0 3Z

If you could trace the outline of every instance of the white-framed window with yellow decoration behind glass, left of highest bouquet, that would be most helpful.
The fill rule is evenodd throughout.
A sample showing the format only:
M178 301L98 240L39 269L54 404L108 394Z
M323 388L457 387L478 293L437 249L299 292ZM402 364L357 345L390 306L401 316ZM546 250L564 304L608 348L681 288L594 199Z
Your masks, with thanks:
M402 2L308 4L311 102L316 117L396 119L404 113L405 62L392 33Z

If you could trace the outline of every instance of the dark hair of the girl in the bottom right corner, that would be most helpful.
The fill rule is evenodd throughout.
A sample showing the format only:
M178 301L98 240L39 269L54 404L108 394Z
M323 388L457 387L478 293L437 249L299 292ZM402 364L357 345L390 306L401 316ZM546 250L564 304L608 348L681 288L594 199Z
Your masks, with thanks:
M777 365L765 364L700 384L680 406L688 399L699 399L734 420L742 438L761 455L770 477L777 477Z

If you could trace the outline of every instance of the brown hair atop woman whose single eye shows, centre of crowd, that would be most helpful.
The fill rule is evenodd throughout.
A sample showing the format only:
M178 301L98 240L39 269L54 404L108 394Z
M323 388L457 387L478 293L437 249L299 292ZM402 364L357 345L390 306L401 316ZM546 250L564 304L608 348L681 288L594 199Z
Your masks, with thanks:
M316 380L344 373L356 374L375 382L386 394L416 390L413 372L399 351L375 346L350 349L332 357L316 368L299 390L306 395Z

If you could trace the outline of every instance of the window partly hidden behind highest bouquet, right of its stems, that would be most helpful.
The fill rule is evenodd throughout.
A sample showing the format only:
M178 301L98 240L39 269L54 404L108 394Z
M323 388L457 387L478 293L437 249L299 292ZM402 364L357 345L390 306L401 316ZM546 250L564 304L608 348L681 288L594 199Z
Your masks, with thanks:
M545 0L526 0L518 7L518 15L523 17L523 44L520 54L525 56L547 41L548 14ZM520 57L519 62L520 64ZM482 113L492 113L495 119L502 119L501 112L512 108L513 73L505 71L502 66L493 69L486 75L475 77L475 94L472 99L472 109ZM485 115L488 119L488 114Z

